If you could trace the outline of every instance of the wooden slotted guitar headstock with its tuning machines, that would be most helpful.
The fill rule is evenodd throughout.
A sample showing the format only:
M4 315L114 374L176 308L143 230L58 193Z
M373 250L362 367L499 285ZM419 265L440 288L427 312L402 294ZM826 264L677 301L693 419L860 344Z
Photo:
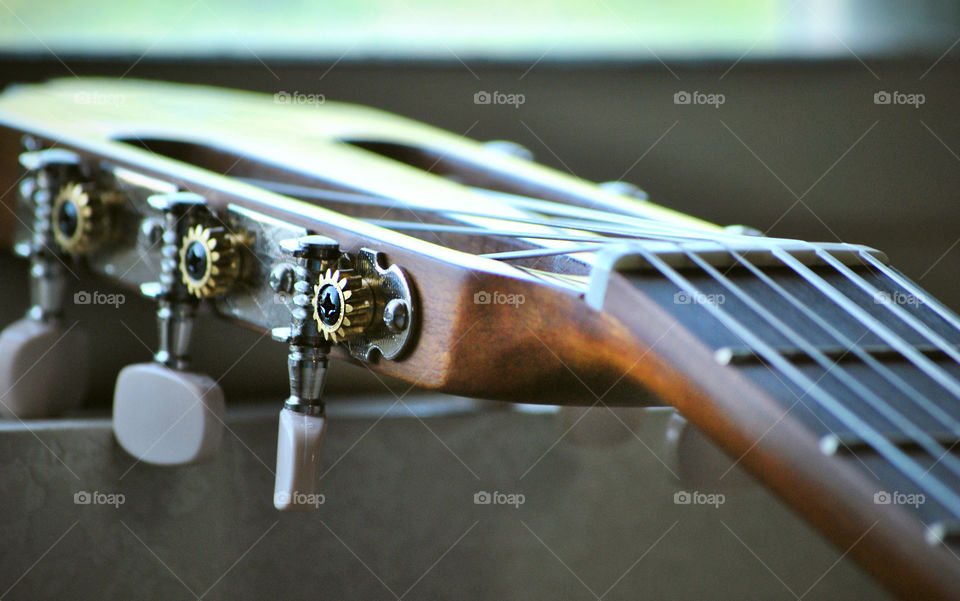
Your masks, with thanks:
M634 187L541 167L514 145L349 105L61 80L5 93L0 122L22 146L12 245L32 263L33 306L0 338L2 373L16 384L7 411L57 413L82 396L78 379L52 394L41 370L23 366L61 337L65 357L86 355L61 319L65 270L83 269L157 304L154 361L117 380L120 444L155 464L210 457L224 395L191 371L189 352L209 305L289 347L283 508L316 486L328 356L449 392L552 395L569 375L517 358L532 339L562 338L573 354L610 336L582 302L599 251L637 238L737 236ZM551 313L582 327L559 333ZM577 354L570 361L606 377L602 356ZM66 362L49 357L43 371Z

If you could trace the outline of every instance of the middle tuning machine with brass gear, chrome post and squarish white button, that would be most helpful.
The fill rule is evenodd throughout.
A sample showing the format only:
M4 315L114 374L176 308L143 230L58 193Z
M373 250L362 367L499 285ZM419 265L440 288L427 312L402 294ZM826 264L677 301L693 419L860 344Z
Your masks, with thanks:
M164 214L160 279L141 286L157 301L159 348L153 362L120 372L113 429L138 459L183 465L213 456L223 438L223 391L210 376L188 371L188 353L200 300L229 287L240 257L201 196L159 194L148 203Z

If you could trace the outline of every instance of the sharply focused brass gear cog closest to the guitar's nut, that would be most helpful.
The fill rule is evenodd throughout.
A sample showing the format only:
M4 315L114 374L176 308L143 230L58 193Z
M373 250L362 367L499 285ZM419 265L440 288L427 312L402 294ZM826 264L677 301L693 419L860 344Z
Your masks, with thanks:
M361 276L328 269L313 288L313 319L326 340L356 338L373 321L373 293Z

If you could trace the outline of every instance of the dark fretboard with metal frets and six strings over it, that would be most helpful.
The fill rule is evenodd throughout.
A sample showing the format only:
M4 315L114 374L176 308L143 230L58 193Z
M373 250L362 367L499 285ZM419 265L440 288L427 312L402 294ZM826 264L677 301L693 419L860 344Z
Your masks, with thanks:
M866 502L896 503L955 542L960 518L960 328L954 314L869 253L859 267L818 250L819 266L773 251L758 267L731 251L678 269L639 251L636 285L728 364L876 482Z

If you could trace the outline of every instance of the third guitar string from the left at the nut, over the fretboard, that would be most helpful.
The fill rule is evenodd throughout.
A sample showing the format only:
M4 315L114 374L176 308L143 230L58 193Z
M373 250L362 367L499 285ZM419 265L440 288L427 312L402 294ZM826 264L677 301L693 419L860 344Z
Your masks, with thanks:
M763 270L756 267L751 263L746 257L740 255L735 250L727 249L731 255L736 257L737 261L750 270L755 276L757 276L761 281L763 281L767 286L772 288L777 294L782 296L787 302L790 303L798 311L801 311L808 319L813 321L817 326L820 327L824 332L832 336L837 342L839 342L844 347L850 349L854 355L856 355L861 361L868 365L875 372L879 373L885 380L890 382L895 386L900 392L905 394L914 402L918 407L926 411L931 417L933 417L938 423L943 426L946 426L954 435L960 438L960 421L957 421L952 415L943 410L939 405L933 402L932 399L927 398L922 395L918 390L911 386L906 380L898 376L890 368L884 365L882 362L878 361L870 352L866 349L857 345L852 339L848 338L843 332L831 325L828 321L820 317L815 311L811 310L805 304L800 302L800 300L791 294L787 289L782 287L776 281L773 280L770 276L763 272Z

